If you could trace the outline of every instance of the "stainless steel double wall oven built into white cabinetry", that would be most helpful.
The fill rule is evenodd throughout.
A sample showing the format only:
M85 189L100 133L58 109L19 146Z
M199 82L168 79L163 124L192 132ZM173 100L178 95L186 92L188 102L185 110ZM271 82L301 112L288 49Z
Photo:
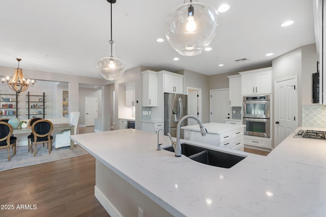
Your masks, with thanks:
M246 96L242 98L242 123L244 134L270 137L270 95Z

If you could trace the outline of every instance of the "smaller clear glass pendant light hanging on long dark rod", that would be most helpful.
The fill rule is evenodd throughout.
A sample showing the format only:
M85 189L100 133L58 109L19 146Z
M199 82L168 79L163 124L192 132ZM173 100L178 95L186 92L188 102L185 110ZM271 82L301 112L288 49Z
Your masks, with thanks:
M116 3L116 0L106 0L111 3L111 40L109 43L110 56L105 56L97 60L97 69L100 74L106 80L117 80L119 79L125 70L126 64L123 60L116 57L114 50L114 41L112 40L112 4Z

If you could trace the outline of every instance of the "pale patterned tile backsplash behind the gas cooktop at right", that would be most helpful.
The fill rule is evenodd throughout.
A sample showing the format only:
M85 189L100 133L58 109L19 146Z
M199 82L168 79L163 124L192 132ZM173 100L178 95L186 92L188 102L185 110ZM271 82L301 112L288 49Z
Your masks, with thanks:
M302 126L313 128L326 128L326 106L302 106Z

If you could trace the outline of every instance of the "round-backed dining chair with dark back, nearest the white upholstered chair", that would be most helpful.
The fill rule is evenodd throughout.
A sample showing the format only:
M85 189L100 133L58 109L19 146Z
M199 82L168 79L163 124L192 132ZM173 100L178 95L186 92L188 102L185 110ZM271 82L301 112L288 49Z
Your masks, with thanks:
M31 146L34 145L34 157L36 156L36 148L39 143L47 143L49 154L52 150L53 136L51 136L53 124L46 119L37 120L32 125L33 137L31 138Z

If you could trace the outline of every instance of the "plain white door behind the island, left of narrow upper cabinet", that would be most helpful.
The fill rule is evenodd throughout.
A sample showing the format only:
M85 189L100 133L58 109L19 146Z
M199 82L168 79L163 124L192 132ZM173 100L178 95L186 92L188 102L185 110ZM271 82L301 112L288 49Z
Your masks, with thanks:
M225 123L230 117L229 89L210 90L210 122Z

